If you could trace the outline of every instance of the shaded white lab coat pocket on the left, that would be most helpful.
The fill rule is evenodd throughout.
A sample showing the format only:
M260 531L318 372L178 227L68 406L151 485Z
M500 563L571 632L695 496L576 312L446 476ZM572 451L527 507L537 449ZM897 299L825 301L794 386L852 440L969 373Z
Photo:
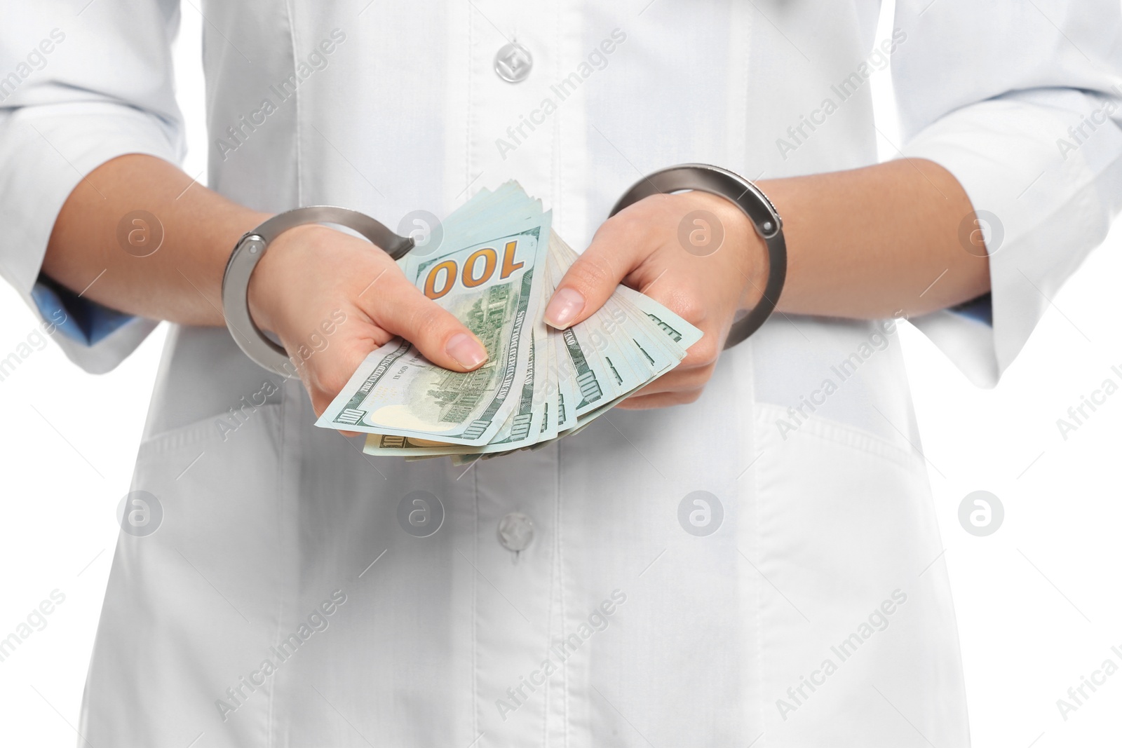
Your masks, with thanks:
M156 745L182 729L187 741L205 731L214 745L264 745L272 686L239 678L267 652L286 589L285 408L205 418L140 445L84 710L111 744Z

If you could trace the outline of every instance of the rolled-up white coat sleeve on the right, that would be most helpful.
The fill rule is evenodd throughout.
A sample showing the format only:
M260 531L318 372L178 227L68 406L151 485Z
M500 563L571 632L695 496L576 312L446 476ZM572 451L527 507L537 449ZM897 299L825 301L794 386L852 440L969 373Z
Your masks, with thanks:
M1122 202L1118 0L899 0L892 79L901 155L958 179L991 292L911 322L996 385ZM976 250L975 250L976 251Z

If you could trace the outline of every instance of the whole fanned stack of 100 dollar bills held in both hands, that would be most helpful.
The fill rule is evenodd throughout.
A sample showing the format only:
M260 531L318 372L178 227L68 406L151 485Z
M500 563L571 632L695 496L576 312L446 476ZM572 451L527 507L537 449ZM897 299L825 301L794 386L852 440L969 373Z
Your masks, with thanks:
M673 369L701 332L619 286L568 330L545 305L578 255L514 182L482 191L443 222L443 240L398 265L469 327L487 363L450 371L402 339L371 352L316 421L365 432L365 452L467 464L576 434Z

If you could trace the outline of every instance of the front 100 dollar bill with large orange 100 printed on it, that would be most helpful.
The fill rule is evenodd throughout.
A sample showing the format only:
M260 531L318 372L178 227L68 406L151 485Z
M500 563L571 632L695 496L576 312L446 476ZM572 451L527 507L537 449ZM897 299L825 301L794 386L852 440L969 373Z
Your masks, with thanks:
M541 315L541 268L550 214L515 233L460 249L445 234L411 278L482 341L488 360L450 371L395 339L371 353L328 406L318 425L478 445L491 441L518 404L530 366L532 327ZM452 239L453 241L449 241ZM447 251L442 251L447 250Z

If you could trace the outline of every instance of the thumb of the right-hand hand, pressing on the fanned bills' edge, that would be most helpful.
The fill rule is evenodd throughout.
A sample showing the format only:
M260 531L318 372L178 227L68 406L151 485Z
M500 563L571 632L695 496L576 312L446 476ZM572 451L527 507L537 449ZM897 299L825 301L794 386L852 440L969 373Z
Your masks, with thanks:
M545 322L564 330L590 317L604 306L636 265L636 244L619 231L605 231L577 258L558 284L545 307Z

